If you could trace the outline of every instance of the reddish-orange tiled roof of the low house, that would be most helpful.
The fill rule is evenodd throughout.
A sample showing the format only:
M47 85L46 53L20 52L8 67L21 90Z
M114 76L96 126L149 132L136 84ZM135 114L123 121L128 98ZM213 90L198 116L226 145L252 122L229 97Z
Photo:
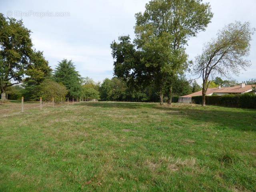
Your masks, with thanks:
M244 93L252 89L252 86L255 85L246 85L244 87L240 87L240 85L234 87L222 87L222 88L208 88L206 95L210 95L212 93ZM202 90L198 92L194 92L189 95L184 95L182 97L193 97L193 96L201 96Z

